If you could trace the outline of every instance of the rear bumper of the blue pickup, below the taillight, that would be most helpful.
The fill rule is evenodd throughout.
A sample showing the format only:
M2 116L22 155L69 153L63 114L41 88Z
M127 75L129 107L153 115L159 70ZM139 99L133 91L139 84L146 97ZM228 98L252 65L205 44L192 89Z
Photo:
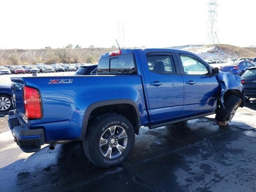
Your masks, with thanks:
M22 151L26 153L40 151L41 145L44 144L43 129L29 129L19 122L16 114L8 115L8 124L14 141Z

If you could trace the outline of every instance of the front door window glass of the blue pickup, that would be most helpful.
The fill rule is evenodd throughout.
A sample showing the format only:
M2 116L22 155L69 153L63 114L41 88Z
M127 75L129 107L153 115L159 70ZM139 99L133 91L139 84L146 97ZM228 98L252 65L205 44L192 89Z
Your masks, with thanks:
M207 66L190 56L180 55L184 73L187 75L206 75L208 74Z

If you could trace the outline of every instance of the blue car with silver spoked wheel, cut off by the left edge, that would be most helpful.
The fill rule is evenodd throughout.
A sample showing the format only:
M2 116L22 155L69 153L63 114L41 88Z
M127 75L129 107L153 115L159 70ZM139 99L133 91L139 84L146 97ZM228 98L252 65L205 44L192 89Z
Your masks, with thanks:
M0 112L13 109L11 84L0 84Z

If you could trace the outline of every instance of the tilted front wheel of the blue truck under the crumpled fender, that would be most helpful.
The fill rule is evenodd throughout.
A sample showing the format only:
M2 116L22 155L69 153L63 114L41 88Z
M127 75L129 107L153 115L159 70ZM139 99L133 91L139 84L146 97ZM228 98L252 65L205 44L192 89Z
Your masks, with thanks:
M216 112L215 119L224 122L224 121L231 121L234 117L236 110L240 106L242 99L235 95L230 95L224 101L224 107L220 106L220 108Z

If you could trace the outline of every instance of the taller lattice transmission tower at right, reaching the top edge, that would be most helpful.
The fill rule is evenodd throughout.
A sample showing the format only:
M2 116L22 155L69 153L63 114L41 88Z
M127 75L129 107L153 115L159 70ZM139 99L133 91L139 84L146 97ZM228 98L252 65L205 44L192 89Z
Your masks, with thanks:
M209 40L209 44L214 44L214 42L218 41L220 43L217 36L218 31L218 20L217 20L217 0L209 0L208 2L209 9L208 9L208 28L209 33L206 40ZM215 39L216 38L216 39Z

